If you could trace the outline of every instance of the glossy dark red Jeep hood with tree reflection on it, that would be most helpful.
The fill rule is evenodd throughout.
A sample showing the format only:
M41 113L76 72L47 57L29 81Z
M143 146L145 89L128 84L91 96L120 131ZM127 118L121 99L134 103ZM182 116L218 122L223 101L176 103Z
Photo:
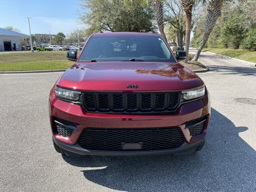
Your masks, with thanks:
M83 62L71 66L56 83L81 91L168 91L202 85L200 78L178 63ZM127 85L137 88L127 88Z

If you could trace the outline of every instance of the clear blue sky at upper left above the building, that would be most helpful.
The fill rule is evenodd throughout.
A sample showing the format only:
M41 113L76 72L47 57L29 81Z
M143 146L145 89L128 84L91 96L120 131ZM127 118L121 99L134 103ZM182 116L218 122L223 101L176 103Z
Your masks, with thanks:
M79 0L0 0L0 28L13 26L29 35L28 19L31 17L31 34L64 34L72 32L78 22L76 10Z

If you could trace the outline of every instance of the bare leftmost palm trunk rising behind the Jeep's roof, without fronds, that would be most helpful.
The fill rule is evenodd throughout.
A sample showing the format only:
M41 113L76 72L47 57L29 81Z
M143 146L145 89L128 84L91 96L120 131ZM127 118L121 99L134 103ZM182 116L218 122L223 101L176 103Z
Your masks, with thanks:
M164 33L164 1L163 0L153 0L153 10L156 19L156 24L164 40L167 42L166 35Z

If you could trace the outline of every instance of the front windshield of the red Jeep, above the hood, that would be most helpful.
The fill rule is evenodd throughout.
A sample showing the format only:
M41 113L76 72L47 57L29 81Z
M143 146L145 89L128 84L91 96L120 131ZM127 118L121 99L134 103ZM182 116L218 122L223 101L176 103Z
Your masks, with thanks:
M78 62L89 60L176 62L159 36L91 37Z

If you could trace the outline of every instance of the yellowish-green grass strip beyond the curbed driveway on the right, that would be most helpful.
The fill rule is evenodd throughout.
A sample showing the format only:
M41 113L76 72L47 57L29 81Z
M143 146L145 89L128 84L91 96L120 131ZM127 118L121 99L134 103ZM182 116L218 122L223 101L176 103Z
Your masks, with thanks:
M198 48L198 47L193 47L193 48ZM256 63L256 51L248 51L248 50L242 50L242 49L225 49L225 48L203 48L203 50Z

